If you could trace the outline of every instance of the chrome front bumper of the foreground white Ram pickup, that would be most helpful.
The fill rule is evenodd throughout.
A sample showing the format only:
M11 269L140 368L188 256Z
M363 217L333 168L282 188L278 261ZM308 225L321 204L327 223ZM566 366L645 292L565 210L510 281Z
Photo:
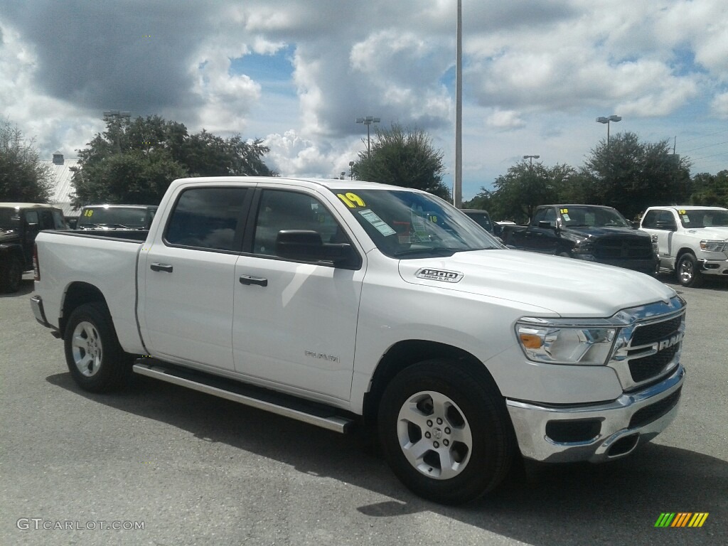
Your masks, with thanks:
M601 462L625 456L675 419L682 365L641 391L596 405L537 405L506 400L521 454L541 462Z

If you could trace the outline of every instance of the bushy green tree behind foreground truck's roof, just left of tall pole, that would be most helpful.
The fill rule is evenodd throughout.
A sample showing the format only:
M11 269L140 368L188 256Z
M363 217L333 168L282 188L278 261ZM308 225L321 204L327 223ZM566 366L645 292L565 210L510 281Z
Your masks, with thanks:
M377 128L371 154L361 151L352 166L357 180L422 189L450 200L450 189L443 183L444 171L443 153L432 147L427 133L400 124Z

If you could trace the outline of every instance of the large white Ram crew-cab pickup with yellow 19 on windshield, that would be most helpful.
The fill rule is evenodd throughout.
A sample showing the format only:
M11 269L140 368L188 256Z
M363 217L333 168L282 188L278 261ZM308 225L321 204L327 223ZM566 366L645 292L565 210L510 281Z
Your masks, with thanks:
M135 372L339 432L376 425L397 477L450 504L516 456L625 456L678 411L671 288L509 250L423 191L183 179L130 234L146 240L36 240L33 313L89 391Z

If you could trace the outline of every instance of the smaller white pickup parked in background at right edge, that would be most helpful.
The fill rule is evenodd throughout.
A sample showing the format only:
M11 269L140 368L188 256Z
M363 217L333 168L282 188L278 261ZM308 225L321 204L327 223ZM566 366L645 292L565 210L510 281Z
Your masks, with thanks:
M728 279L728 209L649 207L640 227L657 237L660 270L677 273L681 285L700 286L703 275Z

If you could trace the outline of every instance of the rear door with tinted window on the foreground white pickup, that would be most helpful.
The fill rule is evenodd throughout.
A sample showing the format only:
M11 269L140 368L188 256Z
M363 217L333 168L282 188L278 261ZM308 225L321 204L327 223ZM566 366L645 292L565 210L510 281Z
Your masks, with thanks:
M234 369L235 263L254 183L183 186L146 252L142 333L152 355Z

